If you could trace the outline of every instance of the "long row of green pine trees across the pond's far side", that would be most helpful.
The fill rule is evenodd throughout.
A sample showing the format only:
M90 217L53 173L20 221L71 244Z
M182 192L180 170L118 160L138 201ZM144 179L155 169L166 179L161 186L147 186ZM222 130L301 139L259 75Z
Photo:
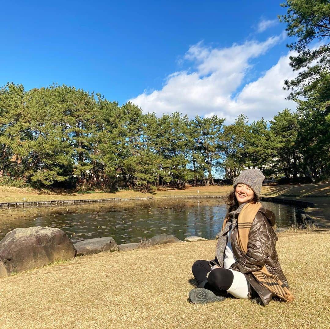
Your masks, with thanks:
M245 167L271 175L329 176L328 78L270 125L174 112L158 118L134 104L118 106L100 94L51 85L25 91L0 88L0 184L68 187L81 191L186 181L214 184L212 170L234 180Z

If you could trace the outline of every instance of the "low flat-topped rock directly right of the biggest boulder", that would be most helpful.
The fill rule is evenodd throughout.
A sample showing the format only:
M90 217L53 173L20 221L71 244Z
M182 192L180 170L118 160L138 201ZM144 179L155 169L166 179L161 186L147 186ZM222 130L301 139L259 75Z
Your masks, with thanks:
M77 256L98 254L106 251L118 251L118 245L112 237L86 239L75 244Z

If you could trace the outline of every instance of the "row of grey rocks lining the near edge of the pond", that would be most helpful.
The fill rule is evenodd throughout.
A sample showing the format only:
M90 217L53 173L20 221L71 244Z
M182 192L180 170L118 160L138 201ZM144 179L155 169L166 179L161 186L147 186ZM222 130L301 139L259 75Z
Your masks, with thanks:
M187 242L206 240L188 237ZM171 234L160 234L146 242L117 245L112 237L87 239L73 245L58 228L34 226L16 228L0 241L0 278L41 267L59 260L100 252L126 251L160 244L183 242Z

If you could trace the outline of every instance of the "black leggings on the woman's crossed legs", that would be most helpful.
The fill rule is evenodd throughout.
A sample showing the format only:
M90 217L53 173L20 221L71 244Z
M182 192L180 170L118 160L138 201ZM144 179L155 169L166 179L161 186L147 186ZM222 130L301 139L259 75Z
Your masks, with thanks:
M234 280L234 275L230 270L219 268L211 271L211 266L207 260L196 260L191 270L198 288L227 291ZM210 271L211 273L207 278L206 275Z

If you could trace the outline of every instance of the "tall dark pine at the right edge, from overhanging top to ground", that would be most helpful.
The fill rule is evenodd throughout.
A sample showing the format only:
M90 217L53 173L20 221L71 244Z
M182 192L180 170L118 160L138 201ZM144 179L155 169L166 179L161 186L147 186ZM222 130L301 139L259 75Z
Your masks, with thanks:
M290 152L292 158L287 171L291 168L294 177L300 172L322 179L329 177L330 169L330 1L287 0L282 6L287 15L280 20L287 23L287 34L295 37L287 45L296 51L290 65L299 70L297 78L285 81L292 90L290 98L298 103L297 121L287 136L286 144L291 145L286 147L286 163Z

